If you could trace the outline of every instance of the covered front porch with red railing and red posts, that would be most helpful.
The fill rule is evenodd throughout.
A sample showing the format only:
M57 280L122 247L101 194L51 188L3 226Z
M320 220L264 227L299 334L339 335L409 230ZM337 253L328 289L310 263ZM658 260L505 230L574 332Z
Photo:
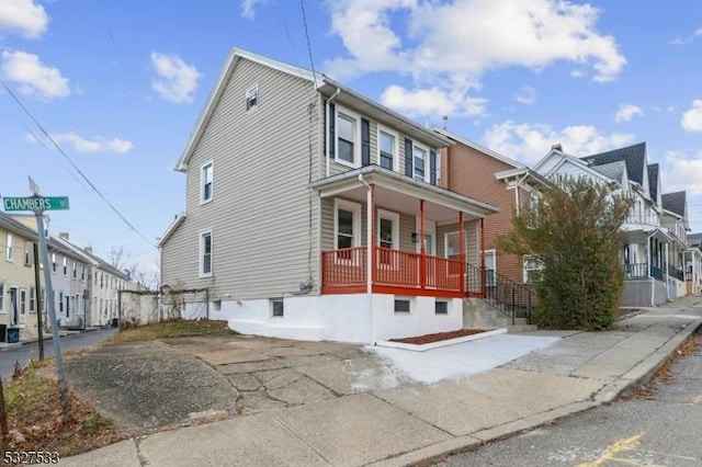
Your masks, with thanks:
M377 166L313 189L322 200L322 295L466 295L465 264L484 249L483 219L496 207Z

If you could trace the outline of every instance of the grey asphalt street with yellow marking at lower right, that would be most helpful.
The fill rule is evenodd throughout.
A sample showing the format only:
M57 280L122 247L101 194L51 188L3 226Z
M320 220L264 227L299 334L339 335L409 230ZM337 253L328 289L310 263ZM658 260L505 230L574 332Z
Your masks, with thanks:
M694 339L702 344L702 335ZM450 456L437 466L702 465L702 349L680 357L670 371L668 384L650 394Z

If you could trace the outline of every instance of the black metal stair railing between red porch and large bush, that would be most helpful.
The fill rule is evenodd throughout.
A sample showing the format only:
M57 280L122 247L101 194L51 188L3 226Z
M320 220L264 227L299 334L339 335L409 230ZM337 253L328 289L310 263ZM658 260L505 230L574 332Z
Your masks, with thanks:
M531 323L531 314L536 300L534 293L524 284L494 270L485 270L484 275L480 267L466 264L466 293L502 311L512 320L512 324L517 318L526 318L526 322Z

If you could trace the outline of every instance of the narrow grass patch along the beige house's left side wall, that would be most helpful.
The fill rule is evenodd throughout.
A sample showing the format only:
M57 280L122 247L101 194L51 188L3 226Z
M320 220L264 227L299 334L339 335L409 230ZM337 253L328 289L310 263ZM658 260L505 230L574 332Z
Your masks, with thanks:
M110 340L113 342L147 341L150 339L186 338L193 335L234 335L227 321L210 319L173 319L120 330Z

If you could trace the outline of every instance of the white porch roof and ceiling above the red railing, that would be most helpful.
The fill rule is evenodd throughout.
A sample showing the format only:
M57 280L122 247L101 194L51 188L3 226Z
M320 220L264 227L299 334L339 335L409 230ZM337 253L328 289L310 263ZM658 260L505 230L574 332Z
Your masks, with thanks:
M312 183L321 197L343 196L365 203L367 189L374 184L375 205L388 210L420 215L420 200L424 200L424 217L444 221L457 221L458 212L465 220L473 220L499 212L489 204L463 196L452 191L414 180L404 174L367 166Z

